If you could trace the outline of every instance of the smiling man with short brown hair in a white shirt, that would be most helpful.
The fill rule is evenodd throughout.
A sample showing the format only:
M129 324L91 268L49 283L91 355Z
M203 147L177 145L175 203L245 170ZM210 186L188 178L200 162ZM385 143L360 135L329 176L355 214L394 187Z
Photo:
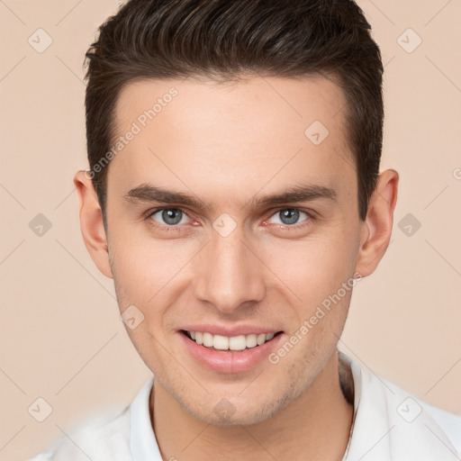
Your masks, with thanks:
M399 179L357 5L131 0L87 58L81 230L153 378L34 459L459 459L460 416L337 348Z

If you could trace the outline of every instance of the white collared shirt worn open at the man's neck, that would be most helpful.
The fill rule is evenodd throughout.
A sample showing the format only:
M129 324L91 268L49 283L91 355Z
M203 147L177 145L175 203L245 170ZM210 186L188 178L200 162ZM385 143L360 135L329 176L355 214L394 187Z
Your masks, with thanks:
M341 354L354 378L354 420L343 461L459 461L461 415L420 401ZM118 414L87 420L29 461L162 461L150 424L154 377Z

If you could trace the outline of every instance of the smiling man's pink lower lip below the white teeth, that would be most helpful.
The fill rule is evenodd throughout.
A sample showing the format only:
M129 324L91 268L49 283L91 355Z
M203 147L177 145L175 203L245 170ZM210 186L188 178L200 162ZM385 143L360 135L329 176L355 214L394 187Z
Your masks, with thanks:
M261 346L231 351L205 348L188 338L185 333L178 331L178 334L183 339L187 351L197 362L213 371L228 374L248 371L257 366L267 358L284 336L284 333L280 333Z

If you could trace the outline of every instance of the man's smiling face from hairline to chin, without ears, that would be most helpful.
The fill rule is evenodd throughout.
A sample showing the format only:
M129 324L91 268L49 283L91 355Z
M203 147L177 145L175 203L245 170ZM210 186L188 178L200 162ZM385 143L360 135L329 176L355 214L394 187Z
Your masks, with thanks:
M199 420L266 420L336 350L361 231L344 104L322 77L149 80L120 95L118 303L156 389Z

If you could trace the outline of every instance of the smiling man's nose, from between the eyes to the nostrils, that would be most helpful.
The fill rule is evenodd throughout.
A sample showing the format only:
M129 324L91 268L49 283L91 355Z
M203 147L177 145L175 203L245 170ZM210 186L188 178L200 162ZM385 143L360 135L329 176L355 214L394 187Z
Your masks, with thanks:
M196 261L196 298L225 314L259 303L266 294L265 266L243 238L240 227L227 237L213 230L211 241Z

